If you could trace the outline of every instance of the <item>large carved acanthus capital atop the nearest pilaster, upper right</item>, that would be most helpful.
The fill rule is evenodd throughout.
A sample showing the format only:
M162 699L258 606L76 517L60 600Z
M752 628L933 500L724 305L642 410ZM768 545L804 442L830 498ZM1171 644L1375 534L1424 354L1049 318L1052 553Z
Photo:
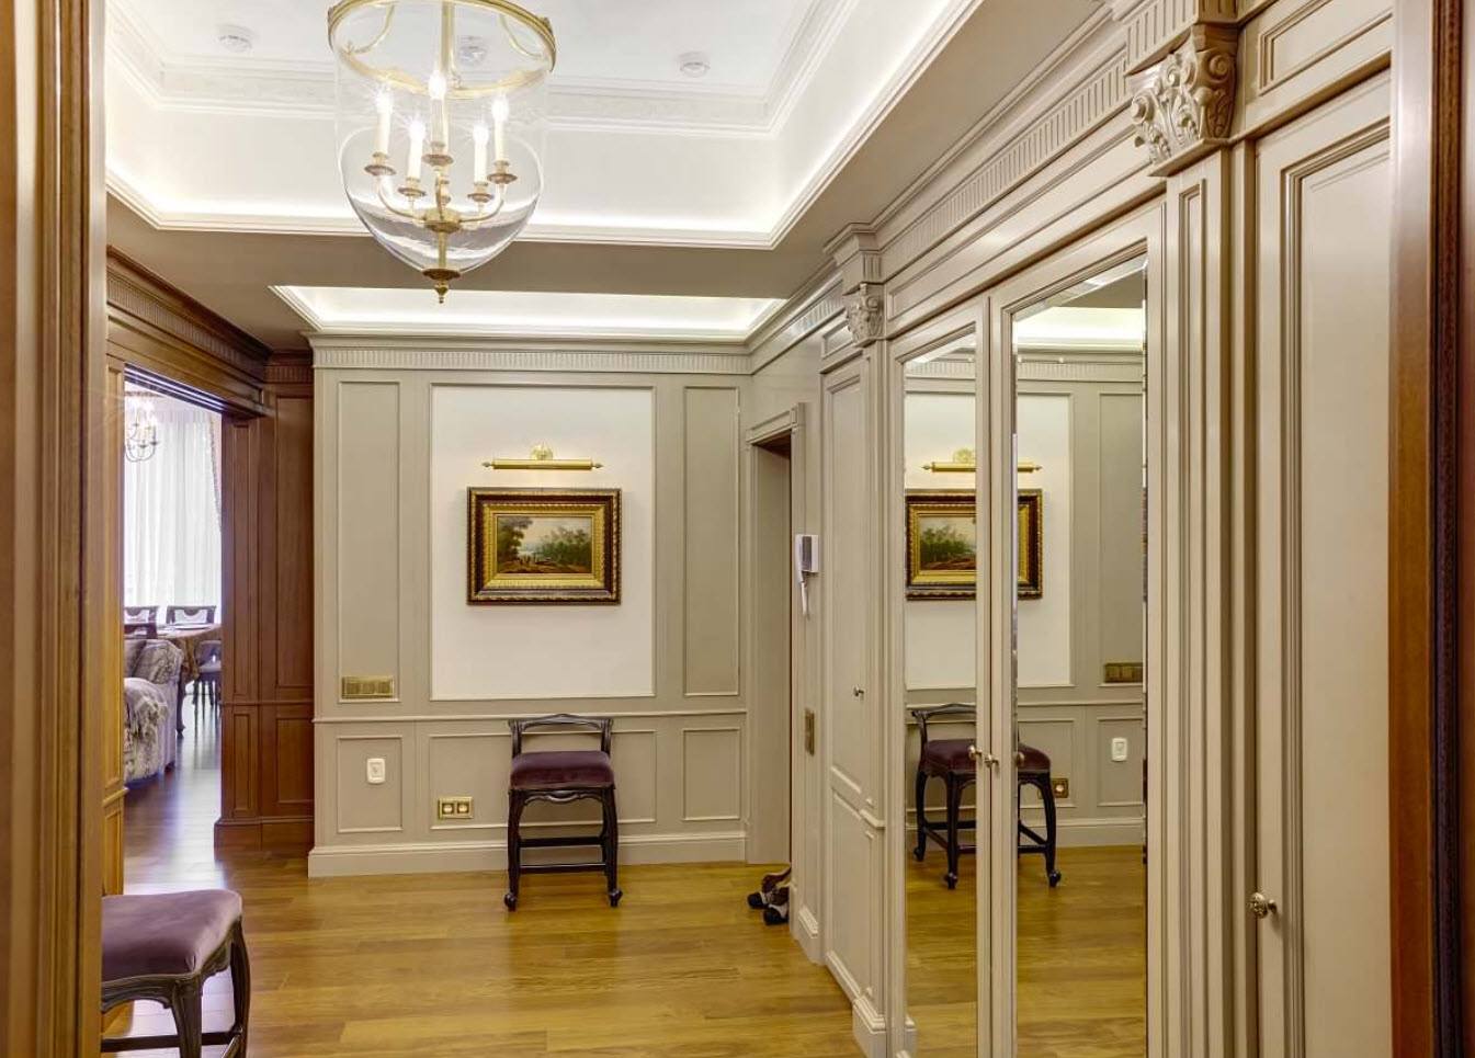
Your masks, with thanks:
M1179 49L1143 74L1131 97L1131 122L1156 173L1229 139L1236 43L1232 28L1196 25Z

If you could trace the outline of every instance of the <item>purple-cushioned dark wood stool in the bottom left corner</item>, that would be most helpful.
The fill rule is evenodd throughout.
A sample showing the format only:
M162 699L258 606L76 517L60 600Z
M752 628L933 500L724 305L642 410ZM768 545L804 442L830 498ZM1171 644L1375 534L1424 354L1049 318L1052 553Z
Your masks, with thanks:
M230 967L235 1018L226 1031L204 1031L205 980ZM178 1048L199 1058L204 1045L227 1043L223 1058L246 1054L251 961L240 931L240 897L230 890L105 896L102 899L102 1012L134 999L164 1003L174 1036L103 1039L105 1052Z

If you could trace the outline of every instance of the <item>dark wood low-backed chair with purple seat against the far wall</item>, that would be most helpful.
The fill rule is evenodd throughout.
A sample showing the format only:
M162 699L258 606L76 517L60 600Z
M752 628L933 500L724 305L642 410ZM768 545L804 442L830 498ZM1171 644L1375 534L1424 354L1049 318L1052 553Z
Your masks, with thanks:
M609 742L614 720L558 716L512 720L512 778L507 784L507 910L518 909L518 891L524 874L555 874L565 871L603 871L609 885L609 906L620 905L620 820L615 815L615 769L609 763ZM589 732L599 735L597 750L522 751L522 736L535 732ZM603 822L597 835L559 835L547 838L522 837L522 810L532 801L599 801ZM524 848L599 846L596 863L522 863Z

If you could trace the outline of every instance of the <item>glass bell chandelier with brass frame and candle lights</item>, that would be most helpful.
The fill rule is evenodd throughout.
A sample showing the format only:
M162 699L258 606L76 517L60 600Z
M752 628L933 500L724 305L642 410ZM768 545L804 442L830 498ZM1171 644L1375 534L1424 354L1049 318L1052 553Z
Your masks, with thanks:
M339 0L327 38L348 201L444 301L538 204L553 27L509 0Z

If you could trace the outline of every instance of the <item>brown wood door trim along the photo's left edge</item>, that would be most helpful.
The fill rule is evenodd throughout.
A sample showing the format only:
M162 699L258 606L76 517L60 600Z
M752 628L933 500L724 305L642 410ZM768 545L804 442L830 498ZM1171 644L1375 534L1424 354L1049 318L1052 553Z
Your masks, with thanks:
M102 0L0 10L0 1051L96 1049Z

